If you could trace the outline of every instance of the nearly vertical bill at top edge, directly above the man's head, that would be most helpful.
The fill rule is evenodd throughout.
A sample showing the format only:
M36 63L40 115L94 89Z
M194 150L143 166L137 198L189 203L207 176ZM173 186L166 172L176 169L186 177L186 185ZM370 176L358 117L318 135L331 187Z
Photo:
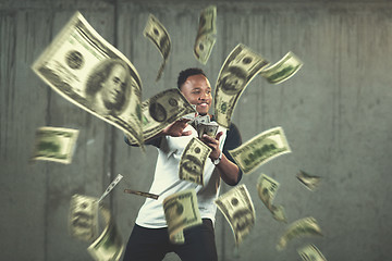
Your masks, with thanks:
M216 20L217 7L210 5L201 11L199 18L199 28L194 46L194 54L196 59L203 64L207 63L217 40Z

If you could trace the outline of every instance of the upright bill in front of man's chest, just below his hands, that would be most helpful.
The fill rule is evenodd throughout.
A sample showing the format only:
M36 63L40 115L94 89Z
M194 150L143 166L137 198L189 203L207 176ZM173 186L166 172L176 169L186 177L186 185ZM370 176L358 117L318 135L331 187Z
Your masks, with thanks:
M180 179L189 181L204 186L203 173L211 148L194 137L186 145L180 161Z

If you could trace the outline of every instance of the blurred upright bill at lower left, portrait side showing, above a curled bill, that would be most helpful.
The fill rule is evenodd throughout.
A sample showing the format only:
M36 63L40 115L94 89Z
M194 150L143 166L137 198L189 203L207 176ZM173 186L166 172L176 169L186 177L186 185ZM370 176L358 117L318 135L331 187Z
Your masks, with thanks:
M84 241L98 236L98 198L74 195L70 204L70 235Z

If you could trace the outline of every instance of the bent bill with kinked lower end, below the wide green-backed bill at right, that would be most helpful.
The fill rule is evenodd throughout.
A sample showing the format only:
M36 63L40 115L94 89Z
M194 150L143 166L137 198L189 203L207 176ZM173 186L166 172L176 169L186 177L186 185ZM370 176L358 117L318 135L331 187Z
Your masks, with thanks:
M280 184L272 177L261 174L257 182L257 191L264 204L272 213L273 219L277 221L287 222L284 208L282 206L275 207L272 204L279 186Z

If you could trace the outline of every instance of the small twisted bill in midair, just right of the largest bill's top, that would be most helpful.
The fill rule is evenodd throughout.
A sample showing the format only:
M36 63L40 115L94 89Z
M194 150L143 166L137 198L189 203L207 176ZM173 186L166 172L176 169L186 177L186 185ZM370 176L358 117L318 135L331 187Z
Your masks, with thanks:
M149 15L146 27L143 32L144 36L149 38L156 47L159 49L160 53L163 57L163 62L158 71L157 79L160 79L163 73L163 69L168 61L170 49L171 49L171 40L170 36L164 28L164 26L158 21L156 16L152 14Z

